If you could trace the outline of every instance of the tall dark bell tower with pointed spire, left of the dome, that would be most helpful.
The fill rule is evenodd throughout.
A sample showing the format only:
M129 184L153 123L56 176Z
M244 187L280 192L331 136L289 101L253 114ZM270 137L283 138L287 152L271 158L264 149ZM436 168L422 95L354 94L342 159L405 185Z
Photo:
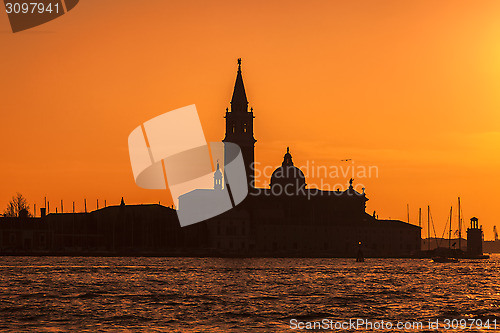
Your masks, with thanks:
M243 154L245 170L249 188L255 187L254 148L253 136L253 108L248 111L248 100L241 75L241 58L238 59L238 73L234 84L233 97L231 98L231 111L226 109L226 136L223 142L236 143Z

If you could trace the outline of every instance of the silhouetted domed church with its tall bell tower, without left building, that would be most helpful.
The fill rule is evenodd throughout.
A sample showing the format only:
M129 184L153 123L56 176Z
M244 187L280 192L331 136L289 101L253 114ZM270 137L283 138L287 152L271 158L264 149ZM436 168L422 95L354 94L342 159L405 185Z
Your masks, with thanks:
M242 151L249 195L235 208L202 222L207 245L215 253L263 256L403 256L420 250L420 228L397 220L379 220L365 212L365 191L353 179L345 191L307 188L304 173L287 147L268 188L255 187L253 108L243 83L241 59L226 109L224 142ZM219 167L216 176L220 177ZM215 177L215 176L214 176ZM224 184L224 182L222 182ZM217 183L215 186L220 186ZM182 207L183 198L179 198Z

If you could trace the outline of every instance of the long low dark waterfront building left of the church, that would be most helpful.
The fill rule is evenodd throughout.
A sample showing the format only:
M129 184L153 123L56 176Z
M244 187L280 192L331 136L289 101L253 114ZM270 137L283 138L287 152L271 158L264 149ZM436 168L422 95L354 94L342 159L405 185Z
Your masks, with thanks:
M157 204L0 220L2 254L200 255L207 246L206 226L181 228L175 209Z

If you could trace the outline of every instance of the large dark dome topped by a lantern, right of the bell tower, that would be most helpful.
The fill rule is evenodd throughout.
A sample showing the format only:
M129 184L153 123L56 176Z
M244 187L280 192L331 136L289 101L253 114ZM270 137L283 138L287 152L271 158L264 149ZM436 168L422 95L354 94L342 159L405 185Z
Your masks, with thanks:
M289 147L283 156L283 163L274 170L271 176L271 190L274 194L296 194L298 190L306 187L304 173L293 165Z

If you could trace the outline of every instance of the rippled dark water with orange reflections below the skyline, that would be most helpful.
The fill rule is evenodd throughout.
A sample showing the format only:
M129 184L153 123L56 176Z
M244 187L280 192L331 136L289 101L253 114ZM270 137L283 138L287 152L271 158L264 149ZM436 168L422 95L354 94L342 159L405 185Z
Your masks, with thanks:
M500 331L499 270L499 256L458 264L0 257L0 329L297 332L291 320L474 318L497 319L486 331Z

